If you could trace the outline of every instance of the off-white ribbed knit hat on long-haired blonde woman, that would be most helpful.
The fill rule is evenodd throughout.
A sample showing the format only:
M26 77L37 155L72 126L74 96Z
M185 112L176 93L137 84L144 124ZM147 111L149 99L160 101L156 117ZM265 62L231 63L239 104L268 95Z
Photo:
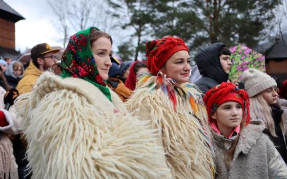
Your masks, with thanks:
M253 97L273 86L277 86L276 81L269 75L256 69L249 69L243 72L244 89L249 97Z

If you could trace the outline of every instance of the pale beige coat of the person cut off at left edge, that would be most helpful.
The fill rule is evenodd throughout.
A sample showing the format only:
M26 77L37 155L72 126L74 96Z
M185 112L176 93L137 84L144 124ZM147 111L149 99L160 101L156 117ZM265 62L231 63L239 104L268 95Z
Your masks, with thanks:
M6 91L0 87L0 110L3 111L8 126L0 127L0 178L4 178L4 173L10 172L10 178L18 178L17 164L13 155L12 142L8 135L15 135L20 132L20 118L16 118L14 105L10 106L9 111L5 110L4 95ZM4 160L5 159L5 160ZM7 177L8 178L8 177Z

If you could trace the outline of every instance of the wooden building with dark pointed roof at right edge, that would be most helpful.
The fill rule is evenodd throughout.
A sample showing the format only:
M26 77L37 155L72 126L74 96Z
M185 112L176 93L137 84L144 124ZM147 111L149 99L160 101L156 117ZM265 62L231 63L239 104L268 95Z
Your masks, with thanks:
M287 45L276 37L273 46L265 51L266 73L279 78L287 79Z

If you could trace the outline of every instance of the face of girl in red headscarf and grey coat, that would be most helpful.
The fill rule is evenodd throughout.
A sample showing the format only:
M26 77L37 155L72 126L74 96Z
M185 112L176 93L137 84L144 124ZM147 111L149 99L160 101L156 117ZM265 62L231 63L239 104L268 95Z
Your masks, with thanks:
M243 111L238 102L228 101L221 104L211 115L216 120L219 131L230 130L240 125Z

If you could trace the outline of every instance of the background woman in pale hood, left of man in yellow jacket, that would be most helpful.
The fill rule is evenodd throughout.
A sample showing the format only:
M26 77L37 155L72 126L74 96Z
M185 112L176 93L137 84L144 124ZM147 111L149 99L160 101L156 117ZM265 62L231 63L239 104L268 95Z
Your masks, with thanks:
M24 73L24 65L19 61L12 61L5 72L8 84L15 88L22 79Z

